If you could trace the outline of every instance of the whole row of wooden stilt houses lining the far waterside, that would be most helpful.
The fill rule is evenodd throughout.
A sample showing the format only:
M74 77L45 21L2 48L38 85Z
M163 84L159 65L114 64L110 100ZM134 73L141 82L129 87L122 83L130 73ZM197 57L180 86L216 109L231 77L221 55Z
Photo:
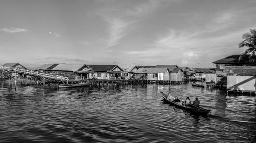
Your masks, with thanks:
M69 80L129 80L144 79L147 83L180 84L183 81L204 81L206 85L225 88L229 91L255 92L256 67L248 57L239 61L240 54L212 62L216 68L179 67L178 65L133 66L123 69L118 65L45 64L28 69L68 77ZM248 55L249 56L249 55ZM2 67L27 69L19 63L7 63ZM3 74L1 75L3 77Z

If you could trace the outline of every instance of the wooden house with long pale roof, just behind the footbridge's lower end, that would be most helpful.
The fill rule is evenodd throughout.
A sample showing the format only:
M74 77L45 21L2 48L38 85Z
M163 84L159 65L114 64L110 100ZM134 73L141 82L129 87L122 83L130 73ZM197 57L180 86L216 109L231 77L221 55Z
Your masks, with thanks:
M68 77L69 80L88 79L90 70L86 64L45 64L35 70Z

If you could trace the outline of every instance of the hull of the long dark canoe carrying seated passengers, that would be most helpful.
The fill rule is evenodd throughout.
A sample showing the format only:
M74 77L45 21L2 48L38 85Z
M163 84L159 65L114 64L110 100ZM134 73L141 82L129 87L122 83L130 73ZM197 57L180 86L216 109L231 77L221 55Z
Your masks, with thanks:
M195 113L195 114L198 114L198 115L206 115L207 113L209 113L211 110L208 110L208 109L204 109L202 107L195 107L195 106L185 106L183 105L181 102L173 102L173 101L169 101L167 100L167 94L163 93L163 92L160 92L162 93L162 96L163 96L163 100L164 102L172 105L172 106L176 106L178 108L181 108L181 109L184 109L186 111L189 111L191 113Z

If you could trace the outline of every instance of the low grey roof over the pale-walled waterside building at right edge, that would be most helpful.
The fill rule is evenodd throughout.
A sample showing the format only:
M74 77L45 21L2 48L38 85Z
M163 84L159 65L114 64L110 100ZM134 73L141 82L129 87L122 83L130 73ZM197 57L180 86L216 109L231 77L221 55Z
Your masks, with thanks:
M256 75L256 68L247 69L247 68L227 68L229 74L237 75Z

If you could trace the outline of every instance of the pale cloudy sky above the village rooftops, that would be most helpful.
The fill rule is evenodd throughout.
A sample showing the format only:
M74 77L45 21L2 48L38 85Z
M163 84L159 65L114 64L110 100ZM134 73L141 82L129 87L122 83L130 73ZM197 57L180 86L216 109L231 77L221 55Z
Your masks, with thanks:
M0 65L212 68L256 28L250 0L1 0Z

